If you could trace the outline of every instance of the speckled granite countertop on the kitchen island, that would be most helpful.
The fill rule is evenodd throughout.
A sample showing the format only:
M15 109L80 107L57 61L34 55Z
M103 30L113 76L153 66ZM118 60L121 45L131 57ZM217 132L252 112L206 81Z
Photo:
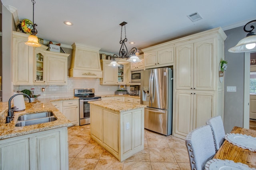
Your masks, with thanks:
M146 107L145 105L142 105L142 104L120 102L120 101L116 101L116 100L99 100L99 101L91 101L88 103L95 105L95 106L104 107L106 109L110 109L113 111L117 111L117 112L129 111L129 110Z

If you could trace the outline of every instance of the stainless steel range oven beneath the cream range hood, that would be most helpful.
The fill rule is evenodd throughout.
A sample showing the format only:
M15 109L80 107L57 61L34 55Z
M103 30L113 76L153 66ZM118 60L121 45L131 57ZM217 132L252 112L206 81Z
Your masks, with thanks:
M101 100L100 96L94 96L93 88L75 89L75 96L79 98L80 126L90 124L90 101Z

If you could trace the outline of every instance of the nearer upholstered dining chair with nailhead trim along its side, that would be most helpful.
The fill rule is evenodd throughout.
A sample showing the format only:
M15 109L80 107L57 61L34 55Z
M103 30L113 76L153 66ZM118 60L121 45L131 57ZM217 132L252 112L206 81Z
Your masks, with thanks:
M191 170L204 170L206 162L215 155L210 125L198 127L188 133L185 143Z

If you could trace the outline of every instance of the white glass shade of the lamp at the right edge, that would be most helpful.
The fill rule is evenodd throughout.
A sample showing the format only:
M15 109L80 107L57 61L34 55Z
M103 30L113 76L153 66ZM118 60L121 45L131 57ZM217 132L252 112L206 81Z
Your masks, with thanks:
M256 51L256 35L250 35L241 39L236 46L228 49L230 53L243 53Z

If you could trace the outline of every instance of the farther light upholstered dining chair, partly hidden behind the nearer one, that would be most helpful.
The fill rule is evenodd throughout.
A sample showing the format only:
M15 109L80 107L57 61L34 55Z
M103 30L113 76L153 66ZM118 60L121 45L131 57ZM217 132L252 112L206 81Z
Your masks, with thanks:
M212 135L214 138L214 145L216 152L220 149L220 146L224 142L224 126L220 116L215 116L206 121L206 125L210 125L212 128Z

